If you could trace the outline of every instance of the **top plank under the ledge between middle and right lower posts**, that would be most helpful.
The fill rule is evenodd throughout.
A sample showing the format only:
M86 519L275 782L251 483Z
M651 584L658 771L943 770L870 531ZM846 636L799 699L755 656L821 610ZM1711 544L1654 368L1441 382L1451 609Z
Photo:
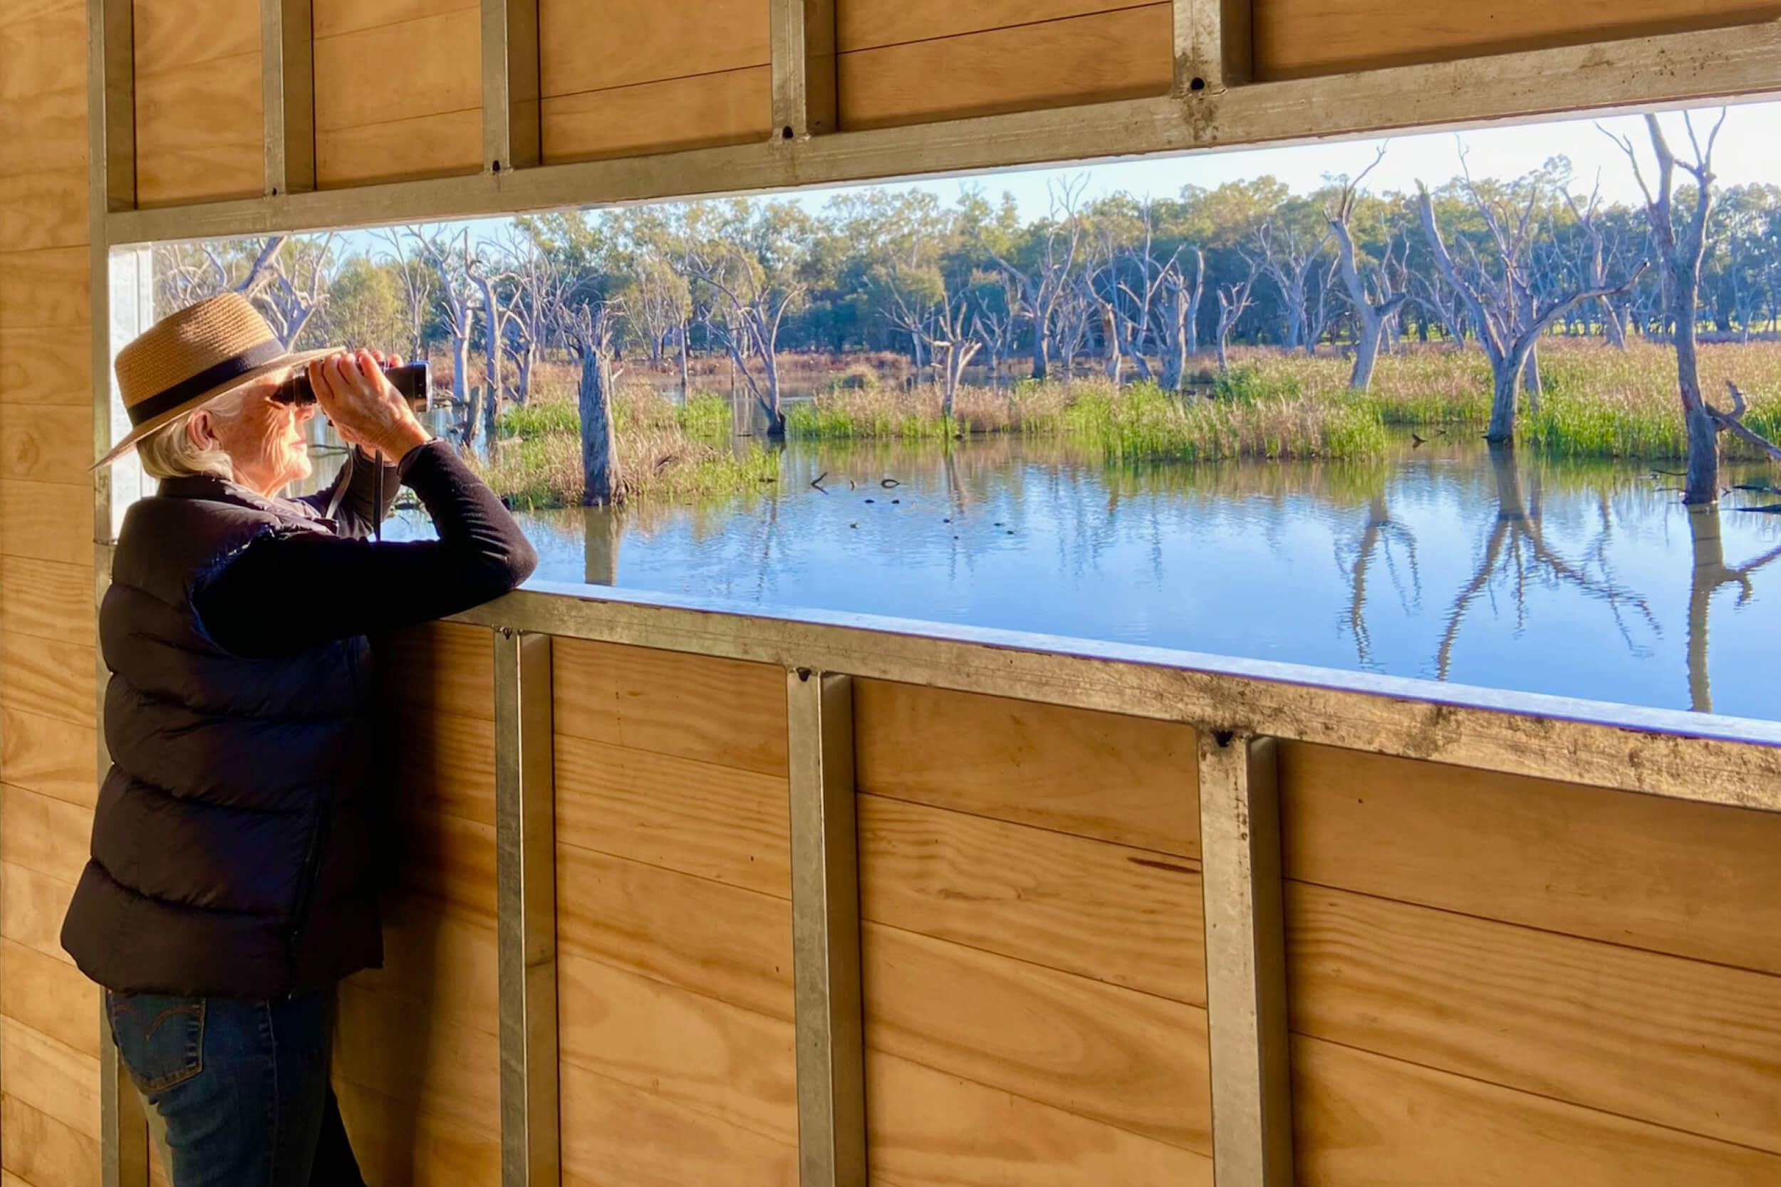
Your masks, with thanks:
M1190 726L857 680L858 790L1200 856Z

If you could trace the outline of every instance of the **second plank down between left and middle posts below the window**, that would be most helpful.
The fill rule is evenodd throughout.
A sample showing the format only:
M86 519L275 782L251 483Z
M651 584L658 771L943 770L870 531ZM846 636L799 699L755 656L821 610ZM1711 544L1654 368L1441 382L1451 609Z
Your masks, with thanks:
M556 737L557 840L791 899L782 776Z

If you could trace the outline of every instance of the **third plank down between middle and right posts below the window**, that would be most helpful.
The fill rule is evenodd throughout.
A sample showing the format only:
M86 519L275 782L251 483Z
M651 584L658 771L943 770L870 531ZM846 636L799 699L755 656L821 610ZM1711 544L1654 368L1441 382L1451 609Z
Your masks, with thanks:
M1206 1011L866 924L866 1043L1211 1153Z

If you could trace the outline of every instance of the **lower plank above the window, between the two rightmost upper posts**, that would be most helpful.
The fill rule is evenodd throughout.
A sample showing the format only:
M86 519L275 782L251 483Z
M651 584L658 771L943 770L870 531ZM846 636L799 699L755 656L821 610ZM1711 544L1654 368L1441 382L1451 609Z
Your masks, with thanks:
M841 53L841 125L889 128L1167 94L1172 12L1149 4Z

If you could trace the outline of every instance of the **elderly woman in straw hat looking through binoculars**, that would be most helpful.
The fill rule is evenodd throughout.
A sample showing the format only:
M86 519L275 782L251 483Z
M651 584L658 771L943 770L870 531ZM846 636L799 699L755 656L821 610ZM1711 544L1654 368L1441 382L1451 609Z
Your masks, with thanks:
M287 354L228 294L118 352L160 479L100 609L112 769L62 945L105 986L175 1187L360 1183L328 1087L333 988L381 963L378 739L365 635L522 582L536 557L365 351ZM313 404L354 448L322 495ZM406 484L438 539L367 539ZM385 500L378 500L378 493Z

